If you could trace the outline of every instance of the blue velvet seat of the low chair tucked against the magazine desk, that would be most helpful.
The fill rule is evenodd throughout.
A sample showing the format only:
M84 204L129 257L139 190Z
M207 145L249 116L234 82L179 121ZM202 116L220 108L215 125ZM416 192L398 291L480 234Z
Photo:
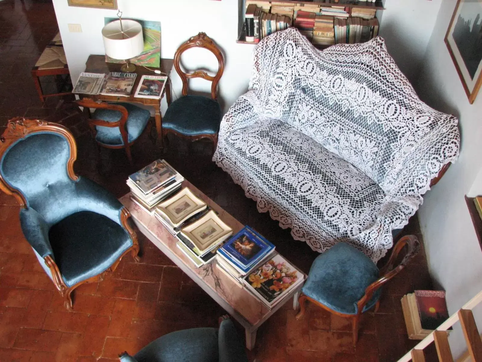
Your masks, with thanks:
M136 140L146 128L149 122L150 112L134 106L130 103L115 103L117 106L125 107L129 116L127 117L126 129L127 140L129 143ZM107 122L117 122L120 120L122 113L120 111L112 111L106 109L96 109L92 115L93 119L100 119ZM95 139L97 142L104 143L110 146L121 146L124 144L122 136L120 135L119 127L104 127L96 125L97 134Z

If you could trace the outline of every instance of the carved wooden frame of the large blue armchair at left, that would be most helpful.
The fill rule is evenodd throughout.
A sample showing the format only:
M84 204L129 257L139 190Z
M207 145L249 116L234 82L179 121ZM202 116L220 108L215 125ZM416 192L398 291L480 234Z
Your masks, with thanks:
M25 139L28 135L39 133L39 132L52 132L62 135L68 142L70 148L70 156L67 161L67 174L72 181L78 181L79 176L77 176L74 172L74 162L77 159L77 145L75 142L74 137L72 134L67 130L66 127L62 125L58 125L56 123L44 122L38 119L25 119L22 117L16 117L11 119L8 122L7 129L3 132L3 135L0 138L0 160L3 158L4 153L9 149L10 145L15 143L19 139ZM0 173L0 190L6 193L7 195L13 195L20 204L20 208L27 209L27 199L25 196L17 189L11 187L8 182L3 179L3 175ZM125 207L121 209L120 214L120 222L122 226L127 230L130 237L132 238L133 245L129 247L126 251L124 251L119 258L110 265L107 270L104 272L85 280L81 280L80 282L72 285L67 286L67 283L64 281L60 270L55 263L52 256L47 255L44 258L45 264L48 266L52 280L54 282L55 287L57 288L58 292L64 298L64 306L67 310L72 310L72 298L71 293L72 291L77 288L79 285L84 283L93 283L96 281L101 281L107 272L113 272L120 263L120 260L124 257L124 255L131 253L132 257L136 262L139 261L139 257L137 254L139 253L139 243L137 241L137 235L135 234L133 228L128 223L128 219L131 217L131 214L128 209Z

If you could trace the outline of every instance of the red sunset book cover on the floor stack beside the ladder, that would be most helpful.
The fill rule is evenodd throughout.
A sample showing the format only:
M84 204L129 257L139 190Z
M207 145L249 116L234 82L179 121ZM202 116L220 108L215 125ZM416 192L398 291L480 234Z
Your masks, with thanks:
M415 291L423 329L434 330L449 318L444 291Z

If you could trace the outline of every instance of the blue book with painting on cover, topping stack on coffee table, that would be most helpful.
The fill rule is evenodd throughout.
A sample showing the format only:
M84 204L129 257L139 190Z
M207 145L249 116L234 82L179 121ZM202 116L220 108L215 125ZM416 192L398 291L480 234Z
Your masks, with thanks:
M241 267L252 266L274 248L273 244L247 225L222 247Z

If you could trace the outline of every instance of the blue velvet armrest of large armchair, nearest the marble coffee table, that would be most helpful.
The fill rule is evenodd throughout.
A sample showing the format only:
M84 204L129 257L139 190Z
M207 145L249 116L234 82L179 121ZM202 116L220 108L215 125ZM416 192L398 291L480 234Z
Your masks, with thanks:
M93 211L122 225L120 213L124 206L112 193L84 177L76 182L75 190L80 211Z

